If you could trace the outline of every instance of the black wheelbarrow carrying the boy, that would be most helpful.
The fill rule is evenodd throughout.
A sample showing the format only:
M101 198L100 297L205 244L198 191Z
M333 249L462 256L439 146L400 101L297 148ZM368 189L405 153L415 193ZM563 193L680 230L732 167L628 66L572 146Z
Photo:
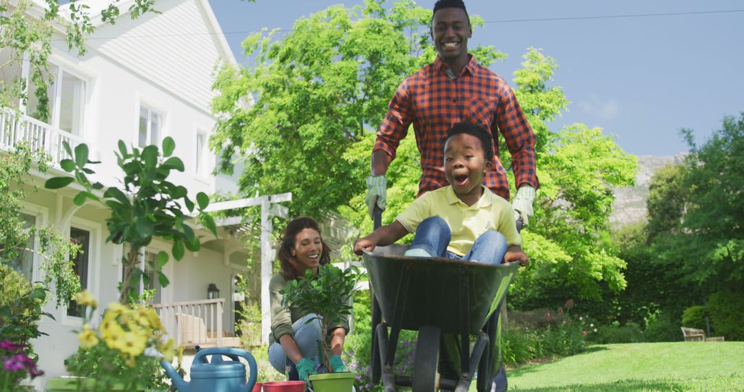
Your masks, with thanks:
M410 386L416 392L437 388L464 392L478 368L478 391L487 391L501 363L498 315L519 263L492 266L448 258L405 257L406 249L408 246L394 244L362 254L373 302L382 310L382 320L373 316L372 381L377 383L382 376L386 392L395 391L396 385ZM419 331L412 376L393 372L400 330ZM461 339L461 374L457 380L438 376L441 333L456 334ZM477 335L472 350L470 334Z

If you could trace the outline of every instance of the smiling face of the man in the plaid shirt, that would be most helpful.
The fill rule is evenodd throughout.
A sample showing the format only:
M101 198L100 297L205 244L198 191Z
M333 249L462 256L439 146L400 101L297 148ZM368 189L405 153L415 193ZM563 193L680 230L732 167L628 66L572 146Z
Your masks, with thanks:
M460 8L442 8L434 13L432 20L434 48L444 62L467 57L467 39L472 28L467 14Z

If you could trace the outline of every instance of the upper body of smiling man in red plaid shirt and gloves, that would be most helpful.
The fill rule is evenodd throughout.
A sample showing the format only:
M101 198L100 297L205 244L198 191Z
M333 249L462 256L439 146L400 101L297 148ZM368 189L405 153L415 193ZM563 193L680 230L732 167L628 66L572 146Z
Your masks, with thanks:
M535 189L539 186L535 169L535 135L507 82L479 65L467 53L472 36L469 16L461 0L440 0L434 4L432 39L437 49L434 63L408 76L388 105L372 152L367 201L370 215L375 204L385 209L385 172L395 158L400 140L414 125L421 154L423 174L417 196L447 185L443 171L446 131L455 122L472 122L490 129L495 141L493 169L484 185L509 200L507 175L498 160L498 130L512 154L517 192L512 200L515 219L526 225L532 215Z

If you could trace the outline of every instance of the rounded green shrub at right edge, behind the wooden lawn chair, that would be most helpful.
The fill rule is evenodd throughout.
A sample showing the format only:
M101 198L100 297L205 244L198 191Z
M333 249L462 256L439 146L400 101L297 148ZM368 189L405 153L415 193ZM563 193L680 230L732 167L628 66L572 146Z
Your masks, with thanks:
M708 297L711 327L726 340L744 340L744 293L719 292Z

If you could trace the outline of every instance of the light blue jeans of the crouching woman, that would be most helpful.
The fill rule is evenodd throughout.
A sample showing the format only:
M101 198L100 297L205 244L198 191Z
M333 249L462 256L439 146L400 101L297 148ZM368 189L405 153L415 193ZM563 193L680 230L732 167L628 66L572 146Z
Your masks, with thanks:
M304 316L302 319L292 323L292 331L295 333L295 343L297 348L300 349L300 353L303 358L313 359L318 365L318 340L323 339L321 336L321 326L317 320L305 324L307 319L317 317L315 314L309 314ZM295 370L295 364L292 363L284 353L284 349L281 347L279 342L272 343L269 347L269 362L272 364L279 373L289 373L289 379L293 379L292 373L297 373ZM289 372L287 372L289 368ZM295 378L297 379L297 378Z

